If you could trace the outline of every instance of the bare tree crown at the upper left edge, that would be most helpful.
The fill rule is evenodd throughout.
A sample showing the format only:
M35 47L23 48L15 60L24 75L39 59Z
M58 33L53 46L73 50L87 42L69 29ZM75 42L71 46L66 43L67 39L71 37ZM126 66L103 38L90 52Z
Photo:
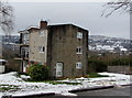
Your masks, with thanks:
M11 33L13 24L13 8L8 2L0 0L0 28L4 34Z

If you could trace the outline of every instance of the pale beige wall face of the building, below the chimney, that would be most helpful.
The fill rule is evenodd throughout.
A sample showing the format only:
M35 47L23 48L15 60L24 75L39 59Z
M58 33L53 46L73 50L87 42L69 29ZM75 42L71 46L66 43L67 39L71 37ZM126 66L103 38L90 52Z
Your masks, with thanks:
M44 35L40 35L40 32L44 31ZM40 52L38 46L44 46L45 52ZM47 30L36 30L30 34L30 54L29 61L38 63L46 63L47 55Z

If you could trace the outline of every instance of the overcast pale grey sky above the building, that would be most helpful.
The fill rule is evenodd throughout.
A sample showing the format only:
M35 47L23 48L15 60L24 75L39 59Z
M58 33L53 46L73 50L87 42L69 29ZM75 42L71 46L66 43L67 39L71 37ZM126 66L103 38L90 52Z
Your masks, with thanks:
M116 12L101 18L105 2L11 2L15 15L15 34L28 26L38 26L40 20L48 24L74 23L89 30L90 35L130 37L129 13Z

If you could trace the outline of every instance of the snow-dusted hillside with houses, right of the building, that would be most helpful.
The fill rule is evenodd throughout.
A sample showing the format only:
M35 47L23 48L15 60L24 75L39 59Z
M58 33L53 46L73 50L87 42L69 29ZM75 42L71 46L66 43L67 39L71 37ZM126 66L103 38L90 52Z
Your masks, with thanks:
M108 51L112 53L129 53L132 48L130 40L108 37L102 35L89 35L89 50Z

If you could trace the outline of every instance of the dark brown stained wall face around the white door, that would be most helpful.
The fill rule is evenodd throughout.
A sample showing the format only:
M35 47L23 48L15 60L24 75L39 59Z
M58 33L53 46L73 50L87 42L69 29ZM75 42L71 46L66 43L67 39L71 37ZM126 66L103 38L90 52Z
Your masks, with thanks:
M77 31L82 32L82 39L77 39ZM82 54L76 53L76 47L82 46ZM51 75L55 76L56 63L63 63L64 77L79 77L87 74L88 31L74 25L50 26L48 64ZM77 69L76 63L81 62L82 68Z

